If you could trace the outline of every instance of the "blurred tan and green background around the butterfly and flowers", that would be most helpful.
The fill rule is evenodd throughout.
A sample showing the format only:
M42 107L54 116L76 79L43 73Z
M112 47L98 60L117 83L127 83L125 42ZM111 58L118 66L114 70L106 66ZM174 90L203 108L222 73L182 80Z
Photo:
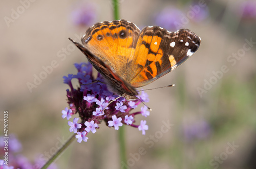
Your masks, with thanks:
M68 37L78 41L94 23L113 20L113 6L110 0L21 2L0 3L0 120L3 126L3 112L8 110L9 134L16 134L23 145L21 153L34 161L38 155L54 153L59 140L71 136L67 120L61 118L61 110L68 106L68 86L62 76L76 73L73 64L87 59L71 47ZM204 7L198 14L194 11L194 16L189 6L200 2L205 2ZM251 160L256 156L255 1L200 2L120 1L120 18L140 29L162 24L176 31L179 27L171 24L176 21L202 38L191 59L143 88L176 85L147 92L147 106L153 111L147 118L136 118L147 121L146 135L125 126L127 158L134 161L131 168L256 168ZM74 14L79 10L88 16L80 24L80 15ZM182 20L184 15L188 20ZM243 48L245 39L254 42L247 43L248 50ZM35 76L52 62L57 66L29 89L28 83L34 83ZM220 73L222 68L225 71ZM205 85L206 81L211 85ZM163 121L173 126L158 135ZM149 147L146 141L155 134L157 142ZM88 137L87 143L74 142L57 159L58 168L120 168L114 128L102 123ZM238 146L228 148L232 143ZM140 147L146 153L134 159L131 154Z

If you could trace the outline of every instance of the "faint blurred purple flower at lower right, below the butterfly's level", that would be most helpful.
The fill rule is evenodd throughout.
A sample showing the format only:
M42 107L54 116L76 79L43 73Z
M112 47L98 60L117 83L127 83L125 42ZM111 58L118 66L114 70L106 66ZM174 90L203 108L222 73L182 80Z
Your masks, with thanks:
M187 142L194 139L207 139L211 134L211 128L205 120L183 124L183 134Z

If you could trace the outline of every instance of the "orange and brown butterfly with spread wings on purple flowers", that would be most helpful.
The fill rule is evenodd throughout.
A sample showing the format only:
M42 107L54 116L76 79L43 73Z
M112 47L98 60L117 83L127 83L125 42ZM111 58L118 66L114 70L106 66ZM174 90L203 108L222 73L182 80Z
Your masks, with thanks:
M176 69L201 43L188 29L169 32L159 26L140 29L127 20L95 23L81 42L74 42L112 91L128 99L137 98L143 87Z

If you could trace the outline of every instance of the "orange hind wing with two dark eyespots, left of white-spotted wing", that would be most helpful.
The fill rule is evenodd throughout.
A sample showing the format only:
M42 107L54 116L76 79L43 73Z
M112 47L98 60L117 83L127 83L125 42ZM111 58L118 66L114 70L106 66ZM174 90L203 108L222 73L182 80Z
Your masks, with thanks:
M125 79L139 33L138 27L129 21L104 21L90 27L81 41L84 47Z

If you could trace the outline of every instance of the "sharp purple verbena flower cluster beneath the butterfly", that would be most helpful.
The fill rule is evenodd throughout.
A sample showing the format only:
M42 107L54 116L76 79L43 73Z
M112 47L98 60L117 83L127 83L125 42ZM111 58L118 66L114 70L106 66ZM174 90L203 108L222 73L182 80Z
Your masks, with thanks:
M78 70L76 75L69 74L63 76L64 83L68 84L70 90L67 89L67 97L69 108L62 110L62 118L68 120L72 115L78 113L81 122L78 123L79 118L74 118L73 122L69 121L70 132L77 133L77 142L82 140L87 142L87 134L91 131L96 132L99 128L98 124L102 121L109 127L119 129L123 124L138 128L145 134L148 130L146 121L142 120L140 125L135 125L135 115L149 116L150 112L147 107L141 107L141 111L131 112L136 108L141 101L148 102L148 95L142 91L139 99L127 101L125 98L119 97L110 92L104 83L103 77L98 73L96 77L93 76L93 69L90 63L75 64ZM79 87L75 89L72 85L72 79L78 79Z

